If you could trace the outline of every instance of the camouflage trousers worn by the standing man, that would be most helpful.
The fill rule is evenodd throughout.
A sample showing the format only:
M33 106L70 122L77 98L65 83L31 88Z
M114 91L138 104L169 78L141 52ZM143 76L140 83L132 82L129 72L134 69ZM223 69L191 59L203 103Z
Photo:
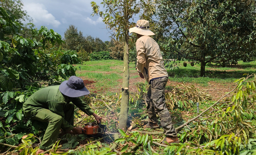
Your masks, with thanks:
M163 77L151 81L148 88L146 102L148 103L148 118L149 122L157 123L158 119L156 114L161 119L161 125L164 128L164 134L177 137L177 132L172 125L171 115L165 104L165 85L168 77Z

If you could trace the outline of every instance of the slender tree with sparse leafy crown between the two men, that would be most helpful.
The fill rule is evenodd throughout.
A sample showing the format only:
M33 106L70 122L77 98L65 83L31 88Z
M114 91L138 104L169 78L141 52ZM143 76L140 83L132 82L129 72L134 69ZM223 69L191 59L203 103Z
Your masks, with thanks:
M126 130L128 120L128 105L129 105L129 27L134 25L131 20L133 16L143 12L141 17L151 17L154 14L153 0L103 0L105 13L99 10L99 6L95 2L91 2L93 7L93 15L100 15L107 25L107 28L112 30L112 36L119 40L123 38L125 41L123 52L123 84L122 84L122 101L119 115L119 128ZM145 19L145 18L144 18Z

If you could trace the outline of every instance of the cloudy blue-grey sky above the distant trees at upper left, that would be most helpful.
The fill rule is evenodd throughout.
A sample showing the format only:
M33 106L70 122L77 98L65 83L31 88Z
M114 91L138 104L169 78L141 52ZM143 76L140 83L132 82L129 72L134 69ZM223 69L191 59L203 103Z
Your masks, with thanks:
M110 41L111 34L102 18L91 16L91 1L101 6L102 0L22 0L23 9L37 28L46 26L64 38L64 32L69 25L74 25L84 36L91 35L102 41ZM104 11L104 8L101 6L100 10Z

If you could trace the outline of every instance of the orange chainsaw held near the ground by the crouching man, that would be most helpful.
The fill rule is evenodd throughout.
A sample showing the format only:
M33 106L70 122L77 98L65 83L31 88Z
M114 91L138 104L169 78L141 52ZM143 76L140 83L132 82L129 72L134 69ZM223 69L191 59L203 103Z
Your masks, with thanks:
M102 137L106 131L106 125L101 125L101 122L99 124L97 123L87 123L84 126L84 129L82 129L82 133L85 135L91 135L96 137Z

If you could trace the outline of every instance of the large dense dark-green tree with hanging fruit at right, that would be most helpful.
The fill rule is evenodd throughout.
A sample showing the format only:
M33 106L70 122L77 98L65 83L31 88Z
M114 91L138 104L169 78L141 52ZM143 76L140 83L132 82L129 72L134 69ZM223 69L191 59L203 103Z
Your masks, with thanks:
M255 0L158 0L158 34L166 59L183 57L205 65L256 59ZM168 38L168 39L165 39Z

